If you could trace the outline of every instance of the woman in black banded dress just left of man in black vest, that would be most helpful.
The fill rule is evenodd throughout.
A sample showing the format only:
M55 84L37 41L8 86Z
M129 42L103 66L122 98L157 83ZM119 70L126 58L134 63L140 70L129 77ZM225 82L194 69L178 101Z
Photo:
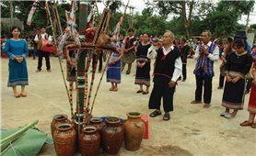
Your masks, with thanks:
M147 50L151 47L150 42L148 41L148 34L144 34L142 37L141 44L136 48L136 76L135 84L140 85L140 89L137 91L137 94L143 93L143 95L148 94L148 88L150 86L150 59L146 57ZM143 85L146 86L145 91L143 90Z

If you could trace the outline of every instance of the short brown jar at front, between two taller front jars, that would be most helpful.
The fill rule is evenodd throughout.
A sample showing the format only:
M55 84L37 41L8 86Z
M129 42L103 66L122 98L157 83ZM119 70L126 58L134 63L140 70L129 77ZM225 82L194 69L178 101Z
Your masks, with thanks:
M99 154L100 135L97 128L88 126L83 128L79 137L80 152L83 156Z

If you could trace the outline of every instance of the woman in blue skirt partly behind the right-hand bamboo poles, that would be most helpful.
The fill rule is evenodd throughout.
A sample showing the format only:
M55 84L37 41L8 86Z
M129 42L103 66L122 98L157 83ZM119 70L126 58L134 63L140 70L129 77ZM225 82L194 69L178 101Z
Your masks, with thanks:
M121 66L122 66L122 42L119 42L117 40L113 41L117 52L111 53L111 59L108 64L108 70L107 70L107 82L111 82L111 88L110 91L118 91L117 84L121 84Z

